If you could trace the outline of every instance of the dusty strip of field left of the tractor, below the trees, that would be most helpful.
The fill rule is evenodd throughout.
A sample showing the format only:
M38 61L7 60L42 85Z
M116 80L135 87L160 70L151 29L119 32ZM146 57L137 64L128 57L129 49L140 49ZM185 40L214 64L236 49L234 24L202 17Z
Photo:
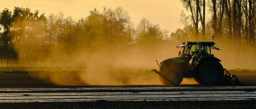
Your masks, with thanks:
M0 84L159 85L151 70L86 70L83 67L9 67L0 69Z

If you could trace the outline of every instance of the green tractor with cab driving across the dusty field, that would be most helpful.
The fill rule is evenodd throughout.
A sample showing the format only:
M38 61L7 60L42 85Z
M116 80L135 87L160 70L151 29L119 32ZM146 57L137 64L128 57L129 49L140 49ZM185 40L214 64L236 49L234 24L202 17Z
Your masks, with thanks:
M211 50L220 50L213 46L214 42L184 42L183 51L179 52L179 57L169 58L158 64L159 74L166 85L178 85L183 78L195 78L201 84L217 84L223 80L231 82L236 75L231 75L223 66L219 58L211 54ZM224 70L226 74L224 75ZM228 74L227 74L228 73Z

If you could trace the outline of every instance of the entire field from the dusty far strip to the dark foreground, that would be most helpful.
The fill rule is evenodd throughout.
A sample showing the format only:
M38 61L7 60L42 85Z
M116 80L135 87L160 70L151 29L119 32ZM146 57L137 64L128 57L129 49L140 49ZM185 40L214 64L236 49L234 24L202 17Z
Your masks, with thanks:
M176 93L181 92L184 96L184 92L187 93L213 93L209 94L209 99L199 98L202 100L193 99L192 100L142 100L133 101L133 100L124 100L124 101L111 101L111 100L99 100L96 101L77 101L73 98L73 101L68 102L41 102L37 100L37 96L29 102L1 102L0 108L76 108L76 109L191 109L198 108L204 109L205 107L209 109L241 109L241 108L255 108L256 97L253 95L256 89L256 70L247 70L247 69L235 69L228 70L231 74L236 74L239 80L243 83L241 85L212 85L206 86L201 85L193 79L184 79L181 85L174 86L165 86L160 81L158 75L153 73L151 70L91 70L84 67L67 67L67 68L58 68L58 67L1 67L0 68L0 99L4 101L5 97L11 97L9 95L15 95L21 93L21 96L18 98L28 97L30 94L39 94L39 93L119 93L119 92L132 92L132 94L139 94L145 92L155 92L155 93ZM218 89L218 88L222 89ZM225 88L228 89L225 89ZM231 88L230 88L231 87ZM234 87L234 89L232 89ZM247 89L247 87L252 87ZM72 89L72 90L62 90L62 89ZM94 89L99 90L94 90ZM117 88L118 90L115 90ZM138 89L136 89L138 88ZM142 88L142 89L140 89ZM144 88L144 89L143 89ZM162 89L161 89L162 88ZM164 89L163 89L164 88ZM188 89L186 89L188 88ZM191 88L191 89L190 89ZM199 89L198 89L199 88ZM216 88L216 89L214 89ZM39 90L42 89L42 90ZM47 89L47 90L46 90ZM51 90L52 89L52 90ZM80 90L73 90L80 89ZM91 90L87 90L91 89ZM93 90L92 90L93 89ZM103 90L109 89L109 90ZM125 89L125 90L123 90ZM131 89L131 90L128 90ZM147 89L147 90L145 90ZM152 90L150 90L152 89ZM20 90L20 91L18 91ZM38 91L37 91L38 90ZM221 100L215 100L214 96L217 95L217 92L223 92L225 94L220 94L224 96ZM244 93L247 100L234 99L238 94L233 95L232 93ZM28 93L28 94L27 94ZM214 94L215 93L215 94ZM249 94L252 93L252 94ZM8 95L9 94L9 95ZM8 95L8 96L7 96ZM192 95L192 94L188 94ZM241 94L243 95L243 94ZM84 96L84 95L82 95ZM92 96L92 95L90 95ZM132 95L133 96L133 95ZM144 96L144 95L143 95ZM143 97L142 96L142 97ZM146 95L147 96L147 95ZM146 97L145 96L145 97ZM149 95L148 95L149 96ZM154 95L157 97L164 97L164 95ZM165 96L169 96L168 94ZM171 96L171 95L170 95ZM172 96L175 96L172 95ZM197 96L197 95L195 95ZM205 95L198 95L205 96ZM207 95L206 95L207 96ZM213 98L211 98L212 96ZM233 99L225 99L225 96ZM233 97L234 96L234 97ZM38 96L40 98L40 96ZM43 97L43 95L42 95ZM54 97L54 96L53 96ZM59 100L63 96L59 96ZM71 96L72 100L73 95ZM95 96L97 98L97 96ZM116 97L116 95L111 95L110 97ZM150 96L149 96L150 97ZM248 98L250 100L248 100ZM84 99L88 99L87 95ZM205 99L205 100L204 100ZM24 101L27 99L24 99ZM58 100L58 99L57 99ZM56 100L56 101L57 101ZM113 99L115 100L115 99ZM39 101L39 102L38 102Z

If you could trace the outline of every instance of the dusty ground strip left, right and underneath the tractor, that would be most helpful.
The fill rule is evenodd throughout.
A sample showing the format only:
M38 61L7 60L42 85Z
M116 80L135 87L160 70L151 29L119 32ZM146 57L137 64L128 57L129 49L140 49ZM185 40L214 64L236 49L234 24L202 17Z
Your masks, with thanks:
M244 85L256 85L256 70L229 70ZM1 70L0 86L95 86L95 85L163 85L150 70L84 71L84 70ZM182 85L200 85L183 79Z

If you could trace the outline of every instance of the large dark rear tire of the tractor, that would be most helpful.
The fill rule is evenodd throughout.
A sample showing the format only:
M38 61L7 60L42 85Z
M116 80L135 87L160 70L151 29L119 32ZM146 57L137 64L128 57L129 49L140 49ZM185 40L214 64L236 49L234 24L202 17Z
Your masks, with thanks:
M222 65L215 60L205 60L197 69L197 80L202 84L216 84L224 76Z

